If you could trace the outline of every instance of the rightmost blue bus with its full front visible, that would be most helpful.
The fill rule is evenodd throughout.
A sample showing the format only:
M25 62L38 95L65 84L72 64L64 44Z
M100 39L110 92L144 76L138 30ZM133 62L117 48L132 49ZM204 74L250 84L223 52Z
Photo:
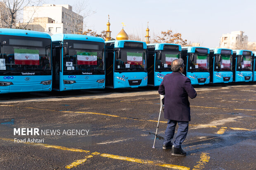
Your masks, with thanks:
M252 51L233 50L233 82L252 81Z

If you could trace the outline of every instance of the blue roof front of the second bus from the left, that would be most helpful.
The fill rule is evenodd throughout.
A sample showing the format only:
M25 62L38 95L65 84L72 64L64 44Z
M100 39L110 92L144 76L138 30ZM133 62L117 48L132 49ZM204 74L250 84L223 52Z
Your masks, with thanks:
M55 35L52 35L52 41L63 41L63 40L81 40L81 41L104 42L102 37L93 37L90 35L80 35L80 34L55 34Z

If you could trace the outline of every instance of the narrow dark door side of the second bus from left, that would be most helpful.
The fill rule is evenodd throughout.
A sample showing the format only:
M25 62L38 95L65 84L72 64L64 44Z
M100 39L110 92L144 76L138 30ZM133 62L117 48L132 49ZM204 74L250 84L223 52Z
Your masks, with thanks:
M59 91L59 73L61 70L61 42L52 42L52 89Z

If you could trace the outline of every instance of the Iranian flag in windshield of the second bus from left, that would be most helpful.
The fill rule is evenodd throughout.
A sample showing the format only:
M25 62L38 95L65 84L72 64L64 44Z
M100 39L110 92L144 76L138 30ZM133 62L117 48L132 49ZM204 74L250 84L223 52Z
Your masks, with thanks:
M78 65L97 65L97 52L77 52Z

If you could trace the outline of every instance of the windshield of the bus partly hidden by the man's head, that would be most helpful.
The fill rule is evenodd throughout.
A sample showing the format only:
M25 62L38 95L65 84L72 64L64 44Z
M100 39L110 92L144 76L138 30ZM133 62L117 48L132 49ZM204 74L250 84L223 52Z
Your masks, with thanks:
M161 60L158 60L156 55L156 71L172 71L171 63L173 60L180 58L180 52L161 51Z

